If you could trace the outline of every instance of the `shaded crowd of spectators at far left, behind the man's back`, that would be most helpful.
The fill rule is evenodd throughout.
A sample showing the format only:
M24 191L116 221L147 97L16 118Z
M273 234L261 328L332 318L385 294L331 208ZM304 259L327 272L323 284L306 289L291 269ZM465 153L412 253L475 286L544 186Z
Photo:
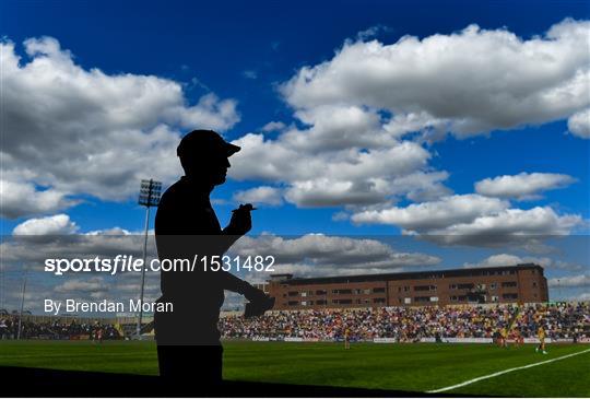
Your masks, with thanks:
M0 315L0 340L16 339L19 336L19 316ZM101 324L98 321L62 321L55 319L51 321L33 321L23 318L21 322L22 339L92 339L111 340L119 339L120 335L114 325Z

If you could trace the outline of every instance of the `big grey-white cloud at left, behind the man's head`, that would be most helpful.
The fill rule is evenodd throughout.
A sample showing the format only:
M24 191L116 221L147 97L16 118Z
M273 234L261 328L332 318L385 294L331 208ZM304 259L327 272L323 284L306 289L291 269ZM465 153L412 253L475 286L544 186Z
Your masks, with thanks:
M190 105L175 81L84 69L51 37L25 40L28 59L11 42L0 46L10 218L66 208L81 193L125 200L146 173L170 183L181 172L176 129L225 130L239 120L234 99L209 93ZM19 206L36 186L46 189Z

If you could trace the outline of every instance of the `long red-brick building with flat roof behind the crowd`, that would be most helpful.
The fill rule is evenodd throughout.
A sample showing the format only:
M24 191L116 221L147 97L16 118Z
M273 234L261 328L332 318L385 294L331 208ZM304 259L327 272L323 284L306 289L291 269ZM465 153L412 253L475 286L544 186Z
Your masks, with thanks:
M274 274L266 289L276 310L548 301L543 268L532 263L315 279Z

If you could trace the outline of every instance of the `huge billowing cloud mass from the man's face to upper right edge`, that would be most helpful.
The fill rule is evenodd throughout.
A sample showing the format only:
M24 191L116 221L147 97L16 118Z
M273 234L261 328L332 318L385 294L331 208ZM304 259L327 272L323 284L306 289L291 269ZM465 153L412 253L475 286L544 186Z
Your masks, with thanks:
M447 131L465 137L543 124L588 108L590 54L579 48L589 33L590 22L566 20L530 39L471 25L391 45L346 40L332 59L281 85L304 127L285 128L275 139L237 140L243 151L231 176L281 183L298 207L363 209L449 196L448 174L433 171L432 154L418 142Z

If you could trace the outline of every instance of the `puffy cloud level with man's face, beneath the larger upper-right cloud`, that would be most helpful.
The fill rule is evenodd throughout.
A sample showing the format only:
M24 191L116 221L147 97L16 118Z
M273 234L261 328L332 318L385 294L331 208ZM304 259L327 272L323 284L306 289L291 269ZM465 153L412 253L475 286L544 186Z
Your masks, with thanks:
M392 196L449 192L441 185L448 174L428 169L430 154L420 144L387 139L382 132L370 138L361 126L356 130L349 125L346 136L342 130L346 125L291 129L276 140L246 134L234 141L243 150L234 155L229 175L285 183L286 200L299 207L365 206L386 202ZM326 129L333 130L328 133Z

